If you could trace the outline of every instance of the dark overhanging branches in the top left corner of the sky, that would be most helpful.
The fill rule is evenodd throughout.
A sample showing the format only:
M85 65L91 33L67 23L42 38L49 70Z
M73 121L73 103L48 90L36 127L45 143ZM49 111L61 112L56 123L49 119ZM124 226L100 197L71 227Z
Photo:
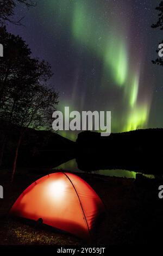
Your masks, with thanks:
M14 16L14 9L17 7L17 4L21 3L27 7L35 6L35 3L32 0L0 0L0 25L4 25L5 22L9 21L15 25L21 25L23 17L18 21L12 20Z

